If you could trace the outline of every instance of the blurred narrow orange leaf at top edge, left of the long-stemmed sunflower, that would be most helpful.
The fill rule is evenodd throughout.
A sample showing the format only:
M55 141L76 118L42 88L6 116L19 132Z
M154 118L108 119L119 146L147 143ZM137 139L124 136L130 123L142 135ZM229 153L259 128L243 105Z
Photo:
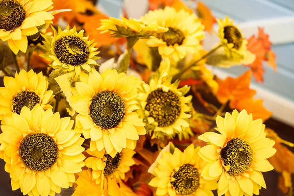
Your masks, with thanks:
M216 20L212 15L211 10L204 3L198 1L196 11L199 18L201 19L202 24L205 26L205 30L212 32L213 24L216 23Z

